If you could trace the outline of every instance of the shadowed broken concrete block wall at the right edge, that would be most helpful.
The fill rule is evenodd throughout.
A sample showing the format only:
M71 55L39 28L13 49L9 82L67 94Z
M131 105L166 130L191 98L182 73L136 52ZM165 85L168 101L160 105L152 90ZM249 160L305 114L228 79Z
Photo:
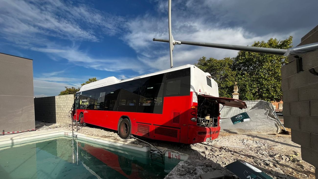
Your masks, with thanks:
M318 42L318 25L299 45ZM318 168L318 50L301 55L303 71L297 72L296 58L281 68L285 127L291 128L292 141L301 145L301 157Z

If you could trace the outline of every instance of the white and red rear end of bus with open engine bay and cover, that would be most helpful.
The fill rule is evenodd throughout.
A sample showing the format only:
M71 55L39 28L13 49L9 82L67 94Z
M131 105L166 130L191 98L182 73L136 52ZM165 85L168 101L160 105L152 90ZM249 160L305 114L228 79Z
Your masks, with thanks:
M188 144L205 142L218 138L220 131L220 105L246 109L244 101L218 97L218 84L209 73L193 69L191 76L192 104L190 110ZM199 78L198 78L199 77ZM206 82L205 82L206 80Z

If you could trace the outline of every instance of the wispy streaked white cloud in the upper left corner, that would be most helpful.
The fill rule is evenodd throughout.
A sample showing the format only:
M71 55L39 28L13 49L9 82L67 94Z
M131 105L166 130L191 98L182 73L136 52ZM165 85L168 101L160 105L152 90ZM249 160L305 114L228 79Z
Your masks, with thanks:
M0 30L3 37L24 44L34 41L32 37L46 39L45 36L100 41L101 34L121 32L118 27L124 21L121 17L84 4L59 0L0 0L0 4Z

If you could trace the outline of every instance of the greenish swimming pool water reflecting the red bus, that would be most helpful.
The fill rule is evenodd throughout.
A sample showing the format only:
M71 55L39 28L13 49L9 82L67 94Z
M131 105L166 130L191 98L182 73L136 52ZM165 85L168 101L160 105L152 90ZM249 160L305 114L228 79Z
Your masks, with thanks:
M124 147L57 139L0 148L0 178L164 178L180 160Z

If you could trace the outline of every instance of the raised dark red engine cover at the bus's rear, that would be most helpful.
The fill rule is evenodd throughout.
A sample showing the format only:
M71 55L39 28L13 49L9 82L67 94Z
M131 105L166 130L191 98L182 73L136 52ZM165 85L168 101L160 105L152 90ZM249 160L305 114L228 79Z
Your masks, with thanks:
M219 104L222 104L223 106L230 106L230 107L236 107L240 109L246 109L246 103L239 99L233 99L233 98L226 98L226 97L214 97L204 94L199 94L200 96L206 98L206 99L212 99L217 101Z

